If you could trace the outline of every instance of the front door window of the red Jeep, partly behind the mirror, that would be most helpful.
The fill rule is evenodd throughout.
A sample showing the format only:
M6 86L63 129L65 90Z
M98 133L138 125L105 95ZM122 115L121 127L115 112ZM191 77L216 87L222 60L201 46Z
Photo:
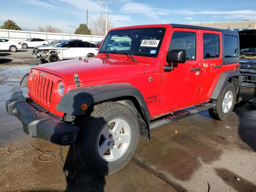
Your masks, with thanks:
M186 50L186 59L196 59L196 34L192 32L174 32L169 46L173 49Z

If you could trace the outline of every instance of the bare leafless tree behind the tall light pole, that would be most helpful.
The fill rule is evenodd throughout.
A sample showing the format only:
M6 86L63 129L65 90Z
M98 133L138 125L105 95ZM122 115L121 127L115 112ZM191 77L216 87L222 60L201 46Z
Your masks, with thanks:
M110 16L107 16L108 24L107 30L114 28L114 22L112 22ZM92 20L91 31L93 35L105 35L105 26L106 26L106 16L100 14L96 20Z

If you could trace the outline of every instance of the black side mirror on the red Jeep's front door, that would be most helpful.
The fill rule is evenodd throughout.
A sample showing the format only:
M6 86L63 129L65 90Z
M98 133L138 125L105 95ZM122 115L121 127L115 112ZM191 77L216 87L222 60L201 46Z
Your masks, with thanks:
M168 52L168 63L169 66L164 66L164 71L173 70L174 63L185 63L186 62L186 50L184 49L173 49Z

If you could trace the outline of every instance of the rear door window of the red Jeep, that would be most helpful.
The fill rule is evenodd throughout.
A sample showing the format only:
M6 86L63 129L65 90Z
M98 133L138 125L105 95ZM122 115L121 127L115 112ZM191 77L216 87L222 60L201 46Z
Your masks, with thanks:
M216 34L203 34L204 59L220 56L220 36Z

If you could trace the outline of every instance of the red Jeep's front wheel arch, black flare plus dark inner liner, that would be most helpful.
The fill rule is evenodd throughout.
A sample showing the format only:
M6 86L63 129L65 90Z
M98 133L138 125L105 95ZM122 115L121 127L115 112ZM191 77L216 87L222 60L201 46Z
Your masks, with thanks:
M70 90L58 103L57 110L72 116L80 116L90 112L95 104L106 101L120 102L136 110L146 123L145 126L140 123L141 133L144 133L141 135L145 139L150 139L149 122L151 117L148 107L141 92L129 83L102 84ZM86 110L81 109L81 105L84 103L88 105ZM145 129L147 130L146 134Z

